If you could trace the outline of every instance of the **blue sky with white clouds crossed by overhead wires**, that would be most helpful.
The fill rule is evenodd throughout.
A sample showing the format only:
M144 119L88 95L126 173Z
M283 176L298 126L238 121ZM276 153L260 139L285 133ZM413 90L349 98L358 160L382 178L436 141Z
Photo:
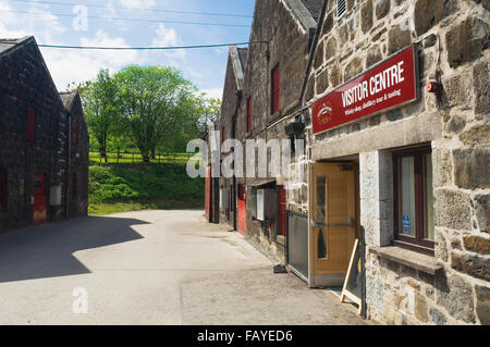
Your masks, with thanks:
M38 44L108 47L244 42L249 38L254 4L254 0L0 0L0 37L34 35ZM75 17L82 13L76 11L85 9L75 8L76 5L87 5L86 27L83 18ZM158 10L241 16L169 13ZM143 18L147 22L118 18ZM219 98L228 59L228 48L186 51L81 51L42 48L41 51L60 90L64 90L68 83L94 78L101 67L114 72L128 63L161 64L180 69L199 90Z

